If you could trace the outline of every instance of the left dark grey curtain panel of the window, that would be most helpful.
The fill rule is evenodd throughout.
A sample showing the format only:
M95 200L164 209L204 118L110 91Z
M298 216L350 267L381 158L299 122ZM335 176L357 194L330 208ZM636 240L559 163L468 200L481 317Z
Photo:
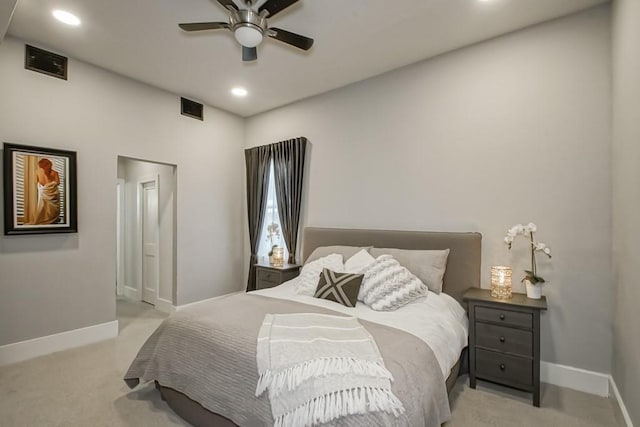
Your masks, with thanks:
M247 166L247 212L249 215L249 243L251 246L251 260L249 261L249 279L247 291L256 288L256 268L258 262L258 247L260 234L267 206L267 191L269 189L269 164L271 150L269 146L244 150Z

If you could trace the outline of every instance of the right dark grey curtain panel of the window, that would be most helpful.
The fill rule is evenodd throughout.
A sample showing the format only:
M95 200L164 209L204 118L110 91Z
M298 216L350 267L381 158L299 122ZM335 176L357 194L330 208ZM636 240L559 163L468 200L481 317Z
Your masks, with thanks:
M296 262L306 150L306 138L295 138L271 145L278 212L282 236L289 249L289 264Z

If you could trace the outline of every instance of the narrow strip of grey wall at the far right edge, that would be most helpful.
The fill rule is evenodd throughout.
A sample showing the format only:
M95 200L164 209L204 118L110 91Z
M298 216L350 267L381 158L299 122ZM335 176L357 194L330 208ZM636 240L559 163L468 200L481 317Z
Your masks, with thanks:
M640 2L613 14L613 378L640 424Z

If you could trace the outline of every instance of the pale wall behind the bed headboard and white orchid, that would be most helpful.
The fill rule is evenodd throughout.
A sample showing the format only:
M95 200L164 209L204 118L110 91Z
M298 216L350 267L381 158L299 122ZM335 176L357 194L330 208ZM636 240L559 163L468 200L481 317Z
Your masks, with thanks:
M519 279L551 246L543 360L611 368L609 9L539 25L249 119L247 146L312 144L304 225L483 234ZM517 281L516 281L517 282ZM518 284L516 290L523 291Z

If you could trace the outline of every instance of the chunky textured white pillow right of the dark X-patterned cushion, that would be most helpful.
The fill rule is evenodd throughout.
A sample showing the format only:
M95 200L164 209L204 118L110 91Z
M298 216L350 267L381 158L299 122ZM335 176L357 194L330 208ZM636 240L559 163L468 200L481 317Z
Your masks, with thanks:
M366 268L358 299L374 310L391 311L427 292L427 286L396 259L381 255Z

